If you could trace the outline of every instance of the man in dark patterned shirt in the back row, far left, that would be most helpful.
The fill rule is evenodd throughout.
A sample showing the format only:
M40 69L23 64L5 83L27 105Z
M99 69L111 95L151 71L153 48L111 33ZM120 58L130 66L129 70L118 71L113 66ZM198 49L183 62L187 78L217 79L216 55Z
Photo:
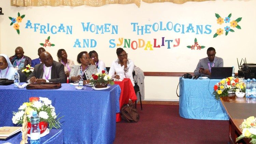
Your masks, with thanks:
M31 65L32 61L30 57L24 56L23 48L20 46L15 49L15 55L11 56L9 59L16 70L23 69L28 64Z

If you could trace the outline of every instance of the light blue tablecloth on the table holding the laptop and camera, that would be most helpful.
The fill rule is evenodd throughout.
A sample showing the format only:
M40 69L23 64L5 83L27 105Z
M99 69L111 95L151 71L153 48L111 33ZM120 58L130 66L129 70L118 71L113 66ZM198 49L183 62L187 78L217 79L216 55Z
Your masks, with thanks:
M229 120L221 101L212 95L213 86L219 81L181 78L180 116L190 119Z

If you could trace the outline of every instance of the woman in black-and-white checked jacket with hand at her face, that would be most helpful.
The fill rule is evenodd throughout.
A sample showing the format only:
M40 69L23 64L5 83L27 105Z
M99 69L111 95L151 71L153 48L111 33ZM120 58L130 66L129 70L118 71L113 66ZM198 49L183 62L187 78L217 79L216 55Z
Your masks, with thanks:
M76 60L81 63L81 66L74 65L71 67L69 80L77 83L83 75L84 84L89 83L91 75L97 73L95 61L90 58L86 51L79 53Z

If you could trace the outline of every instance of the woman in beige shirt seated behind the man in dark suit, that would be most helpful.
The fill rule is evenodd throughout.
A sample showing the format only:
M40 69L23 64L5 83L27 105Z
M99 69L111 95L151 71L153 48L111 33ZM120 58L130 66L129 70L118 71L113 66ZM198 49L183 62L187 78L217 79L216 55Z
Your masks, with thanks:
M59 62L64 65L64 71L67 76L69 76L71 67L74 66L74 61L67 59L68 54L66 53L65 49L59 49L57 52L57 57Z

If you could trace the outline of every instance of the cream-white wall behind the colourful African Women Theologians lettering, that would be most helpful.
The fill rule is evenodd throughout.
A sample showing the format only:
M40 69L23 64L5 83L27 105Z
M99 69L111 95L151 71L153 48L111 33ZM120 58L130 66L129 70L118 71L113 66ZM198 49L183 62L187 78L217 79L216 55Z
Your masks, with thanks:
M135 64L143 71L150 72L193 72L200 58L207 57L206 50L208 47L216 49L216 56L224 59L224 66L235 66L238 70L236 58L246 57L247 62L255 62L255 0L217 0L205 2L186 2L184 4L173 3L153 3L147 4L142 2L140 8L135 4L112 4L101 7L90 6L41 6L41 7L15 7L10 6L10 1L0 1L0 7L4 15L0 15L0 52L12 56L14 49L17 46L22 46L25 55L34 59L37 58L37 49L41 47L39 43L51 36L50 42L55 44L52 47L46 47L46 51L50 52L55 60L57 60L57 50L59 48L66 49L68 58L76 61L76 56L81 51L98 52L106 66L110 66L113 59L116 57L116 48L124 47L116 46L110 48L109 40L115 39L118 43L118 38L131 39L138 41L143 39L145 42L150 41L154 45L154 40L161 45L161 38L165 40L173 40L171 48L167 49L167 43L160 48L154 48L153 51L144 50L143 48L124 48L129 54L128 58L132 59ZM20 34L10 26L10 17L17 17L17 13L25 14L25 18L20 24ZM214 33L218 28L224 29L226 25L218 25L216 23L215 13L218 13L223 18L232 13L231 20L242 17L238 23L242 29L232 28L235 32L229 32L213 38ZM71 25L72 34L66 33L40 33L39 30L34 32L33 29L26 29L26 23L30 20L32 24L39 23L40 25L59 26L60 24ZM171 21L174 24L181 24L188 27L189 24L196 25L211 25L210 34L196 34L196 32L174 32L174 30L156 31L151 29L149 34L137 34L132 31L131 23L139 23L140 26L152 25L154 23L167 24ZM118 34L104 33L96 34L84 32L81 23L93 23L95 25L104 25L110 23L118 25ZM205 29L204 29L205 30ZM180 38L180 45L173 47L176 44L175 39ZM201 50L191 50L186 46L194 43L197 38L200 45L205 46ZM95 48L77 48L73 47L76 39L82 42L82 39L94 39L97 41ZM237 71L236 71L237 72ZM145 100L174 100L178 101L176 96L176 86L179 83L178 77L145 77Z

